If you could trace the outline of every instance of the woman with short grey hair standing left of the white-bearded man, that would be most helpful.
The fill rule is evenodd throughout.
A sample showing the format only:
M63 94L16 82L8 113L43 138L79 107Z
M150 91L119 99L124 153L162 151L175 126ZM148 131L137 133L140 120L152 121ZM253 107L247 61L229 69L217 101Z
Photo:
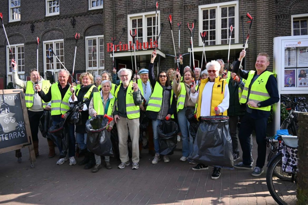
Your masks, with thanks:
M89 115L96 117L97 115L107 114L110 117L113 117L113 111L115 109L116 98L111 94L112 83L108 80L103 80L101 83L102 90L97 93L93 93L93 98L89 104ZM115 124L112 120L107 128L107 133L110 137L110 131L112 130L113 125ZM105 156L105 167L111 169L110 157ZM95 166L92 169L92 172L97 172L102 168L101 158L98 155L95 155Z

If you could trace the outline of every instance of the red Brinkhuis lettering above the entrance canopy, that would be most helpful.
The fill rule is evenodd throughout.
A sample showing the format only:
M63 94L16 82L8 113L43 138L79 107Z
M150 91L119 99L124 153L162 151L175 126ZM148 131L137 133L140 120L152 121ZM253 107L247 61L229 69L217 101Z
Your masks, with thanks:
M118 45L113 45L113 43L107 43L107 52L112 52L113 51L113 47L116 51L129 51L129 50L134 50L134 48L132 47L132 41L129 41L128 43L122 43L119 42ZM148 42L139 42L138 40L136 40L135 42L135 49L136 50L142 50L142 49L154 49L157 48L158 44L156 41L152 41L152 38L150 38L150 41Z

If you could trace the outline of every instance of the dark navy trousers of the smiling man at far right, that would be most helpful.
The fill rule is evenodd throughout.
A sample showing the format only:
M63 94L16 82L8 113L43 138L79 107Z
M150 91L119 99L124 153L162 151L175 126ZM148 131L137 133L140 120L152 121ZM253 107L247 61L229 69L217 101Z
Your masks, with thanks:
M258 145L258 158L256 166L263 168L266 158L266 127L268 117L262 117L253 119L249 113L246 112L245 116L241 120L241 127L238 133L241 148L243 151L243 163L245 165L251 164L251 146L250 135L254 130L256 132L256 140Z

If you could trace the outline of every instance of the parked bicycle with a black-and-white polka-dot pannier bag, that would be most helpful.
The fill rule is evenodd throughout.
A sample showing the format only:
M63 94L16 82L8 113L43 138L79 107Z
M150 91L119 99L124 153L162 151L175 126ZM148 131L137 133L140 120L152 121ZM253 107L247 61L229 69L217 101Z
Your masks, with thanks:
M267 164L266 185L279 205L296 203L297 156L289 151L297 152L297 142L297 136L278 136L278 153ZM288 164L289 159L294 165Z

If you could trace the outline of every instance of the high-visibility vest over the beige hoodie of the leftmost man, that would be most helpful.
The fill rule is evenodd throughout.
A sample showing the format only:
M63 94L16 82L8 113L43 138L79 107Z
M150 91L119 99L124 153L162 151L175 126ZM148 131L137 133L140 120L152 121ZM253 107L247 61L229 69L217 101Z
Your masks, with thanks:
M47 80L44 80L42 82L42 90L44 93L48 93L50 88L50 82ZM30 108L33 106L33 100L34 100L34 89L33 89L33 83L31 81L27 81L26 85L26 93L25 93L25 101L26 101L26 107ZM43 108L45 108L48 105L49 102L45 102L42 100Z

